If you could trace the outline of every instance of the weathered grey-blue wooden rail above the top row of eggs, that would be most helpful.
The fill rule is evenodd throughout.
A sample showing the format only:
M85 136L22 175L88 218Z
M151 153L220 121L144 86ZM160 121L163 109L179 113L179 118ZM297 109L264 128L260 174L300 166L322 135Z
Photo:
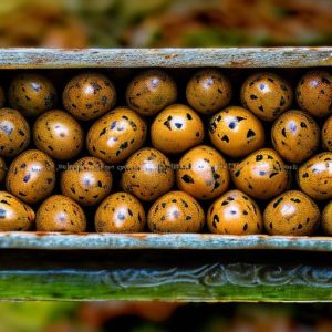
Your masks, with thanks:
M0 50L0 69L331 65L332 48Z

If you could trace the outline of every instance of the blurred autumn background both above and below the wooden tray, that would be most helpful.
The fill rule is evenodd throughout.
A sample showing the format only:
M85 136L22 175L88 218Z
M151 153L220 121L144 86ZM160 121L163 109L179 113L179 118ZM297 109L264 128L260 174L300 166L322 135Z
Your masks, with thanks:
M332 0L0 1L1 48L280 45L332 45ZM35 331L331 332L332 307L0 303L0 332Z

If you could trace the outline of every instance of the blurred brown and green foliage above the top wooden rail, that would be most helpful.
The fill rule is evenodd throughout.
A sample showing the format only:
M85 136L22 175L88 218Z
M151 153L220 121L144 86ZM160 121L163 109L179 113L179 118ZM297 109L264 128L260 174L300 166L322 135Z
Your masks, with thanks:
M0 46L331 45L331 22L332 0L2 0Z

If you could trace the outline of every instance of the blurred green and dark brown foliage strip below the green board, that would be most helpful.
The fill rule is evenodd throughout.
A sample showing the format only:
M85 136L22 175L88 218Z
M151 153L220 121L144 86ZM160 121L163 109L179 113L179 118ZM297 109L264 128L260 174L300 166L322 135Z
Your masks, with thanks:
M18 302L0 304L0 332L330 332L331 313L328 303Z

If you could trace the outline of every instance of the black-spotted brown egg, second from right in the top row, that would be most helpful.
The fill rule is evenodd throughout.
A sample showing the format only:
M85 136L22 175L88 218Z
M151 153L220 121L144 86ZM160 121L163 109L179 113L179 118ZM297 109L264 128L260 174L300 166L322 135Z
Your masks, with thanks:
M293 92L291 85L273 73L257 73L249 76L241 87L241 102L259 118L273 121L290 108Z

